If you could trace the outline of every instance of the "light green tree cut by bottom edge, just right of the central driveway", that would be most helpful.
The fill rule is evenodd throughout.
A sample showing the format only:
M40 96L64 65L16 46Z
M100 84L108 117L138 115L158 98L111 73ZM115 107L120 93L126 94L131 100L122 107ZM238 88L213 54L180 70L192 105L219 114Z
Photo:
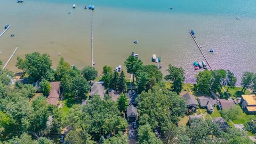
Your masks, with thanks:
M155 133L151 130L150 125L141 125L138 129L139 143L163 143L160 139L155 137Z

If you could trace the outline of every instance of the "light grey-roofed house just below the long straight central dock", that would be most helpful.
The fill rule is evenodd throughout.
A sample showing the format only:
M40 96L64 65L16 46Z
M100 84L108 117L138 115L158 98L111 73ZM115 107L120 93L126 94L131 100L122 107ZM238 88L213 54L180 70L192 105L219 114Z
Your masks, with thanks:
M104 90L105 90L105 86L103 85L103 82L95 82L95 83L93 83L93 85L91 86L89 99L93 95L100 95L101 99L103 100L104 99Z

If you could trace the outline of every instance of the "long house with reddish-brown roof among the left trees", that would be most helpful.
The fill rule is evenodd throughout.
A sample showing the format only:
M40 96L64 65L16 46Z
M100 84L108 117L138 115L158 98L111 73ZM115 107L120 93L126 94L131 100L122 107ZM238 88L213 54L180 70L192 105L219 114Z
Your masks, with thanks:
M60 82L51 82L50 84L51 91L46 100L48 104L57 106L60 97Z

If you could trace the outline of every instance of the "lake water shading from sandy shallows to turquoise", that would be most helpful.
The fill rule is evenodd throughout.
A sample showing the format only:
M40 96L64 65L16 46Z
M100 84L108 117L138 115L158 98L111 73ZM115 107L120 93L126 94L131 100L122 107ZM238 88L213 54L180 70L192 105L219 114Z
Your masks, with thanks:
M185 69L186 82L195 82L199 70L192 63L204 59L191 29L213 69L229 69L238 78L243 71L256 72L255 0L0 0L0 31L11 25L0 38L0 59L6 62L18 46L7 66L13 71L18 71L18 56L34 51L50 54L53 68L58 53L78 68L91 65L91 12L84 10L89 4L95 6L93 50L99 72L104 65L123 65L131 52L146 64L156 54L162 57L164 74L172 64Z

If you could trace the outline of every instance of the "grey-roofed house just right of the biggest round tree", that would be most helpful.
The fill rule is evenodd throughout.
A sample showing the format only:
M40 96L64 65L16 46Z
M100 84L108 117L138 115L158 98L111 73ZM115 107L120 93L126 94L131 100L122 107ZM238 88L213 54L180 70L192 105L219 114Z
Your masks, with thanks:
M194 97L193 94L190 94L189 92L187 92L186 94L183 94L181 96L181 98L184 98L187 100L187 108L188 108L188 112L191 113L192 111L194 111L199 103L197 102L196 98Z

